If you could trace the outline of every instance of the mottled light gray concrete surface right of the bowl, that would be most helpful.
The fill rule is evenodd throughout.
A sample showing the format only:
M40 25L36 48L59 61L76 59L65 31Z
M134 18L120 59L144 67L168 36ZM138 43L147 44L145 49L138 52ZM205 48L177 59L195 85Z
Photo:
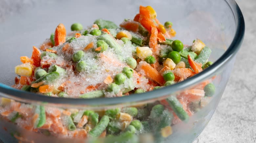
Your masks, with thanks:
M245 17L245 38L223 97L194 143L256 143L256 0L236 0Z

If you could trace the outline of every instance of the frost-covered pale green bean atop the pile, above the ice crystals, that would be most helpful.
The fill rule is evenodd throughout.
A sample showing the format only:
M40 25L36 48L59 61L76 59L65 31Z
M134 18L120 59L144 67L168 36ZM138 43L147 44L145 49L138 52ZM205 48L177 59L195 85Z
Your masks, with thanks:
M109 34L104 33L98 37L98 40L105 41L110 48L113 48L118 54L121 53L121 46Z

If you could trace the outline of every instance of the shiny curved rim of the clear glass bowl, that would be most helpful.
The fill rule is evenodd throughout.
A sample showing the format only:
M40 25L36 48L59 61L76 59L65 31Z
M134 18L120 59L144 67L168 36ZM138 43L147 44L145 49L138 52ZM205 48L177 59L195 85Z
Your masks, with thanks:
M30 103L52 103L52 104L65 104L65 105L114 105L121 103L143 102L151 99L160 98L162 96L175 93L184 88L200 83L201 81L213 76L225 63L232 59L238 52L240 45L242 44L245 34L245 21L241 9L234 0L224 0L233 12L236 31L235 36L229 45L226 52L209 68L196 74L195 76L188 78L182 82L174 84L170 87L163 87L158 90L149 91L140 95L129 95L123 97L114 98L95 98L95 99L72 99L72 98L58 98L49 97L32 92L25 92L5 84L0 83L0 94L3 97L10 98L16 101L26 101Z

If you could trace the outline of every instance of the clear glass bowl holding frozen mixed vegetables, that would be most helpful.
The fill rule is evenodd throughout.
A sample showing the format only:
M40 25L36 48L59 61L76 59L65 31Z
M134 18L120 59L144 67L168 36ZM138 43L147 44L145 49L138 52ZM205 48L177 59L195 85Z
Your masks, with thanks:
M172 21L177 32L175 39L191 44L199 38L212 49L210 61L214 64L195 76L170 87L125 97L101 99L67 99L42 96L16 90L14 66L20 64L20 56L31 55L32 46L39 46L48 38L57 24L71 25L79 22L91 25L95 19L103 18L119 24L124 18L133 18L139 5L150 5L157 11L160 22ZM189 143L203 131L212 117L224 92L232 71L235 56L243 41L245 23L242 12L234 0L127 0L127 1L37 1L27 9L14 12L0 22L0 97L9 98L15 103L43 105L45 108L63 110L102 110L134 106L150 108L150 105L176 96L193 88L198 88L208 80L216 87L211 98L204 98L201 105L192 111L187 122L173 124L172 135L156 138L157 131L138 134L139 141L128 142L182 142ZM168 110L172 113L171 110ZM157 123L156 123L157 124ZM38 133L40 132L40 133ZM24 129L16 123L0 116L0 139L4 142L85 142L85 139L56 137L43 131ZM155 137L155 138L154 138ZM125 139L122 139L125 141ZM118 142L118 141L117 141ZM119 141L120 142L120 141Z

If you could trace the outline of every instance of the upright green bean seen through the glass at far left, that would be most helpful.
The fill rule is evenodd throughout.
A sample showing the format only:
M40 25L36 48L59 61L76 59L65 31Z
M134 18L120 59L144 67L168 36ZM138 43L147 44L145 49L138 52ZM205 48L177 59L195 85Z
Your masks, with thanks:
M36 128L42 127L46 122L46 115L45 115L45 109L44 106L36 105L35 106L35 114L38 115L38 118L35 121L34 126Z

